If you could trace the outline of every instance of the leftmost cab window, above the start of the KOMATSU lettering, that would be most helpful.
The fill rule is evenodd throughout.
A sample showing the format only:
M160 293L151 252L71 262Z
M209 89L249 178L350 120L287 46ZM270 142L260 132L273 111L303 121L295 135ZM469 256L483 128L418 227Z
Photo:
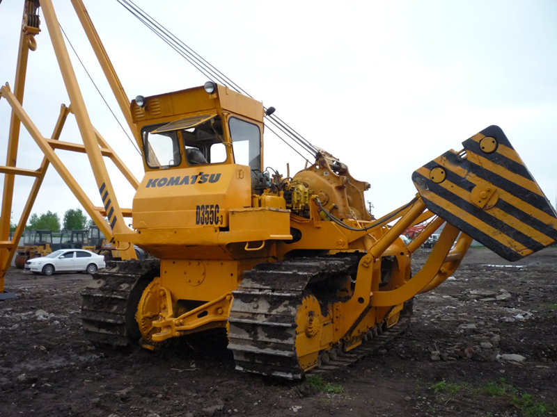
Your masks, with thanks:
M153 126L143 129L143 148L148 167L177 167L182 161L176 131L150 133Z

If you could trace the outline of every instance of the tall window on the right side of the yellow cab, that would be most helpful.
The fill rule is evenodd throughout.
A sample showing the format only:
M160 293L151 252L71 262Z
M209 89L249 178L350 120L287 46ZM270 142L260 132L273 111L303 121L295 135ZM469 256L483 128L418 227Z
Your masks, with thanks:
M228 122L234 161L240 165L249 165L250 169L261 170L261 133L256 124L230 117Z

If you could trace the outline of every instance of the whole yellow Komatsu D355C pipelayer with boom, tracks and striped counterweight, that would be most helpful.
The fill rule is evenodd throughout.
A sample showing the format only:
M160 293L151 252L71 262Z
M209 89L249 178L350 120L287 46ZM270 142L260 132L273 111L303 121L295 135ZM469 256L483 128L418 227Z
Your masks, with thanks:
M314 368L357 359L404 329L412 297L449 277L473 239L515 261L557 238L557 214L497 126L418 168L412 174L416 196L372 218L363 198L369 183L306 140L314 160L304 170L290 177L288 170L265 169L265 126L285 124L260 101L208 81L130 104L83 4L72 4L141 148L141 181L120 163L136 188L132 208L118 205L102 156L117 165L119 159L88 118L50 0L26 1L17 74L24 74L26 51L38 33L40 6L70 108L63 106L52 138L45 139L22 108L18 79L14 92L6 85L0 95L13 109L13 126L21 122L45 153L41 169L54 165L123 254L82 294L84 332L97 345L139 343L153 350L179 336L226 329L237 369L299 379ZM82 147L58 140L70 111ZM13 126L8 161L17 153ZM93 206L68 174L54 152L58 147L86 152L103 207ZM20 221L13 240L6 238L10 178L31 175L7 165L0 168L6 174L2 286L22 231ZM28 207L43 171L33 171L38 185ZM132 218L131 228L124 216ZM426 220L404 245L400 234ZM412 254L443 224L423 268L411 276ZM133 245L153 258L134 259Z

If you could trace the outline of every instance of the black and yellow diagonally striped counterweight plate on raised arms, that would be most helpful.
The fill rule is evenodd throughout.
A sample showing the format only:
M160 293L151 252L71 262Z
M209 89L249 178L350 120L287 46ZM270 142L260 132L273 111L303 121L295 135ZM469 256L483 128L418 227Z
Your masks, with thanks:
M508 261L557 240L557 213L499 126L412 174L425 206Z

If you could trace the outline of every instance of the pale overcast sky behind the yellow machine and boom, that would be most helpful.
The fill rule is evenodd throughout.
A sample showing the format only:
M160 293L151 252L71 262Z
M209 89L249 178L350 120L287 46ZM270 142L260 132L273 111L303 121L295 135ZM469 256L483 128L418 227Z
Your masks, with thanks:
M0 4L0 82L13 85L23 1ZM207 78L115 0L84 0L128 97L202 85ZM490 124L501 126L552 204L557 199L557 2L546 1L170 1L136 0L189 47L371 183L376 216L416 193L411 173ZM116 101L69 0L54 0L81 60ZM42 15L42 13L41 13ZM49 137L68 95L43 20L30 53L24 108ZM93 124L136 177L143 165L74 54ZM0 100L0 157L10 107ZM81 142L68 117L61 140ZM19 167L42 153L24 129ZM100 206L86 156L57 151ZM4 160L2 159L2 164ZM291 173L304 161L266 136L265 166ZM133 189L108 162L120 206ZM0 174L0 177L3 177ZM13 220L32 180L17 179ZM79 206L50 167L33 213Z

